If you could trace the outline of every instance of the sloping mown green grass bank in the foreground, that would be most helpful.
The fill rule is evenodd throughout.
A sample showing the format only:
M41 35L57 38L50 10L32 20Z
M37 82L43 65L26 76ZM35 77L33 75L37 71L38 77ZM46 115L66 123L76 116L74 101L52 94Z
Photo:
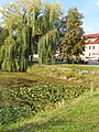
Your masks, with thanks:
M99 132L99 91L10 124L2 132Z

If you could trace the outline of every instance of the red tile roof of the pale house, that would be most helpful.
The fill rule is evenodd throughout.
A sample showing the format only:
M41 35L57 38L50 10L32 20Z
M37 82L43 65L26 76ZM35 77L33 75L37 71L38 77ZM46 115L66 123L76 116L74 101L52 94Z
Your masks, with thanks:
M85 44L99 44L99 33L84 35L86 40Z

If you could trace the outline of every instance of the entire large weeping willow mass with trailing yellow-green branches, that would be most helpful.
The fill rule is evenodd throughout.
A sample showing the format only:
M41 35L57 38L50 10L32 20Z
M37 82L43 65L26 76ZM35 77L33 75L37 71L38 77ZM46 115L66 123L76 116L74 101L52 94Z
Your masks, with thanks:
M54 63L59 21L58 3L41 3L41 0L15 0L3 7L4 29L8 37L0 50L0 68L25 72L33 55L38 52L40 63Z

